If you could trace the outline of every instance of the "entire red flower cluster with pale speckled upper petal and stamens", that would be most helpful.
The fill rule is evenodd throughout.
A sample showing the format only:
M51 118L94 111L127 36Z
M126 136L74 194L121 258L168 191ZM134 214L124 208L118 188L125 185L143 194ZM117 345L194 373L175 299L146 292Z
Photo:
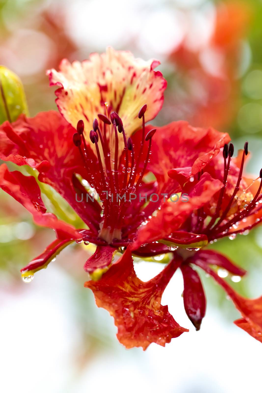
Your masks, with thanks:
M71 242L92 242L97 248L84 264L90 276L85 286L97 305L114 316L119 342L146 349L188 331L161 305L178 268L184 277L185 310L200 328L206 303L194 270L200 266L240 310L236 324L260 339L261 299L241 298L209 265L237 276L245 271L224 255L202 250L209 241L233 237L260 222L261 183L253 196L253 183L249 187L249 180L242 179L247 144L242 159L232 160L226 133L192 128L184 121L157 129L145 126L163 103L166 82L154 71L158 64L112 48L82 63L62 61L59 72L48 72L50 84L59 87L60 113L20 116L0 128L0 158L36 169L38 183L53 187L83 222L75 228L47 213L35 177L1 165L0 187L57 237L21 269L22 278L31 281ZM88 186L99 193L98 199ZM177 193L187 198L174 203ZM114 259L115 254L120 257ZM156 277L143 282L136 276L133 256L160 260L165 254L170 261Z

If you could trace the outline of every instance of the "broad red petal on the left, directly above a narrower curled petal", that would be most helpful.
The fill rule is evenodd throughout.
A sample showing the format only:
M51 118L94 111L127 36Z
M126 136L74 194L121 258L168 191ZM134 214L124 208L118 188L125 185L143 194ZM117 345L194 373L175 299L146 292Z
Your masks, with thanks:
M95 200L86 202L85 198L83 202L76 202L75 187L78 183L74 174L85 173L79 151L72 141L74 132L75 129L55 111L39 113L32 119L20 116L12 125L5 122L0 127L0 136L4 140L0 158L17 165L39 167L40 171L44 165L48 170L41 173L38 179L51 185L97 233L101 211L99 204ZM92 150L89 149L88 154L93 154Z

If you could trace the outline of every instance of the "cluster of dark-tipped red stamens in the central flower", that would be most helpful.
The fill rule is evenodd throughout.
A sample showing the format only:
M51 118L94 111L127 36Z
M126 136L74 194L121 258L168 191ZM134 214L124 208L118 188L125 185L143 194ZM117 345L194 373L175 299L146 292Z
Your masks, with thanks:
M99 237L108 244L113 239L122 238L121 228L123 228L126 210L133 199L130 198L130 194L137 193L147 168L152 136L156 129L150 130L145 136L146 110L147 105L144 105L138 114L139 119L142 119L142 136L136 159L134 145L131 138L126 138L121 118L116 112L111 112L109 119L107 108L106 114L98 114L100 127L99 121L94 119L93 129L90 131L90 140L95 145L95 153L88 149L86 144L82 120L79 120L77 133L73 135L73 143L78 147L86 169L85 180L95 188L102 202ZM145 143L148 143L147 155L142 165ZM119 157L119 152L122 152L119 145L124 146L122 157Z

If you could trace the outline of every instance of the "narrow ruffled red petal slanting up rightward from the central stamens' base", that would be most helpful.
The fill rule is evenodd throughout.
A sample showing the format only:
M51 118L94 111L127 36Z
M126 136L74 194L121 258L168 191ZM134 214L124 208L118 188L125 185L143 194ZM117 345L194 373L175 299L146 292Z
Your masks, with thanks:
M163 203L156 217L152 217L147 225L140 228L137 240L133 245L134 250L141 244L147 243L149 239L150 242L164 239L172 232L177 231L192 211L209 202L221 187L220 180L214 180L208 173L204 173L189 194L187 202L183 202L180 198L178 202L167 201Z

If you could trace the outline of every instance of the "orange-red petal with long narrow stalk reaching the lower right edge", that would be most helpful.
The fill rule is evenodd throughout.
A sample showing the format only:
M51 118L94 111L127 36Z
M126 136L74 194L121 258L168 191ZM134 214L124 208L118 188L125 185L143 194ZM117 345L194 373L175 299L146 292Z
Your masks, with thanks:
M211 275L216 282L224 288L228 296L236 306L236 309L241 312L242 317L236 320L234 323L244 329L256 340L262 342L262 296L258 299L246 299L238 295L232 288L227 284L225 280L219 277L211 268L206 266L202 261L196 261L196 264L200 266L205 272Z

